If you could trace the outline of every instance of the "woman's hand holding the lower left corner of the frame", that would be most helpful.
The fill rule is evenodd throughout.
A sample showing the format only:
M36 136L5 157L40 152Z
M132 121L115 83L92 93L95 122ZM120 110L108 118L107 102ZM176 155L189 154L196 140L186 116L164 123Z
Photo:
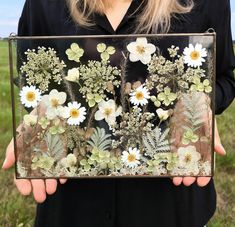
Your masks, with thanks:
M3 163L2 168L4 170L9 169L15 163L15 154L14 154L14 143L13 139L6 150L6 158ZM61 184L66 182L66 179L59 180ZM57 180L56 179L35 179L35 180L27 180L27 179L16 179L14 177L14 182L16 184L17 189L22 195L29 195L31 192L34 195L36 202L42 203L45 201L47 194L52 195L55 193L57 188Z

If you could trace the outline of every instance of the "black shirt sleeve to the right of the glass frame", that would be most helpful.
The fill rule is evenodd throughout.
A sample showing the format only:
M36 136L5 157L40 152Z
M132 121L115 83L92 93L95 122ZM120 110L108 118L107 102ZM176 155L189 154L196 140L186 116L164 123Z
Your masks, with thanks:
M215 113L221 114L235 97L235 58L231 32L230 1L209 1L210 25L217 33L216 63L216 107Z

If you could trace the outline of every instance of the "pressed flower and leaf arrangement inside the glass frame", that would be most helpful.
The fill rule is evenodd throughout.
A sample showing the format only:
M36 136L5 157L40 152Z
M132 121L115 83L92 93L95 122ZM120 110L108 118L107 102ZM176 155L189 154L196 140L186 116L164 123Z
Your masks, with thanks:
M15 137L17 177L211 176L214 36L55 37L63 48L18 48L28 113Z

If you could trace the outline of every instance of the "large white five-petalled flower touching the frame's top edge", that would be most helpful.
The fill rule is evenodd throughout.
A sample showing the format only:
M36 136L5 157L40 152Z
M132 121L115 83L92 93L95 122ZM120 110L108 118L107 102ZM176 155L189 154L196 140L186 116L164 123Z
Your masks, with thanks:
M146 65L151 61L151 55L156 51L156 46L148 43L146 38L137 38L136 42L127 45L127 50L130 52L130 61L141 61Z

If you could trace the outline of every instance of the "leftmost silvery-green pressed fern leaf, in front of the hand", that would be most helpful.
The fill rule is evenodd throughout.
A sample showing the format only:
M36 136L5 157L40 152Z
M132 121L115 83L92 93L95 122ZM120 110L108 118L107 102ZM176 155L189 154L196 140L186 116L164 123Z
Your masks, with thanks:
M48 153L55 160L59 161L63 157L64 144L59 135L51 135L47 133L45 135L45 141L48 147Z

